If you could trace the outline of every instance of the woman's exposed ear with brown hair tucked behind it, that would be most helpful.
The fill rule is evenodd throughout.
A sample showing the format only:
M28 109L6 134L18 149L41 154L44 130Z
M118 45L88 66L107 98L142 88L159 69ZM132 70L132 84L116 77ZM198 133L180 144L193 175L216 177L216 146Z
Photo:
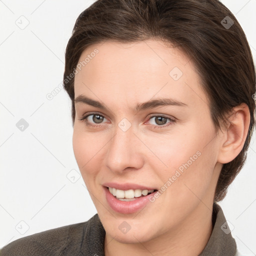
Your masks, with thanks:
M230 162L242 150L250 124L250 112L247 104L241 103L234 107L228 120L228 127L223 131L220 141L217 158L220 163Z

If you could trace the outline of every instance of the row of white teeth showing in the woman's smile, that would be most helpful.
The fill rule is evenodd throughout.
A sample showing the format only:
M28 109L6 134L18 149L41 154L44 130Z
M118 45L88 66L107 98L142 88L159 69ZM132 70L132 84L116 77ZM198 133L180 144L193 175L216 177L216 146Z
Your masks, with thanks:
M120 189L116 189L114 187L108 187L108 190L112 195L116 196L116 198L120 199L121 201L132 201L130 199L132 199L134 197L139 197L139 196L141 196L141 194L147 195L148 193L152 193L154 191L154 189L150 189L150 190L147 190L147 189L120 190ZM125 198L127 198L127 199L125 199Z

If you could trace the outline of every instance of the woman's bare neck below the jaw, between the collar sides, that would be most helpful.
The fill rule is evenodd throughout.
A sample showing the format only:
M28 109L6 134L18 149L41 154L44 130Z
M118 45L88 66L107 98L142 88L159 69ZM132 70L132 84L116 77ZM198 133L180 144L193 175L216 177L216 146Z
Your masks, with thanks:
M211 232L212 205L208 208L200 202L182 223L143 243L120 243L106 233L104 252L105 256L197 256L206 246Z

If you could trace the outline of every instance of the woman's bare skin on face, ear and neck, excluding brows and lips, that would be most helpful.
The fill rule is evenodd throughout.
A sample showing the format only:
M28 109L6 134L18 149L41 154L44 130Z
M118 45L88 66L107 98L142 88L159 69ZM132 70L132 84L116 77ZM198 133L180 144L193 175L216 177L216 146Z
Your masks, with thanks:
M246 138L248 107L235 107L228 129L215 133L200 78L180 49L156 40L108 41L86 48L79 61L95 48L98 54L75 74L75 98L86 95L107 110L75 104L73 150L106 230L105 255L196 256L212 232L213 196L222 164L240 152ZM176 81L169 75L173 67L183 72ZM132 112L137 103L158 97L171 97L187 106ZM93 115L87 118L98 126L79 120L93 111L105 117L101 123L93 121ZM175 121L154 128L161 125L150 114ZM125 132L118 127L122 118L131 124ZM142 210L121 214L108 205L102 183L131 182L161 189L196 151L200 156ZM131 227L125 234L118 228L123 221Z

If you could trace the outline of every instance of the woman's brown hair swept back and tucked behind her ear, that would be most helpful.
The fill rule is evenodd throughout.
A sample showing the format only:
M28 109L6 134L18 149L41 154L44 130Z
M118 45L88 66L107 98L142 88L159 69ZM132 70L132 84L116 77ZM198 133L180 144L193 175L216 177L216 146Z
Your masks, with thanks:
M228 122L226 113L234 106L244 102L249 107L250 125L243 148L223 164L218 178L214 201L222 200L246 159L255 125L256 94L255 68L245 34L218 0L97 0L82 11L65 51L63 84L72 101L72 125L74 77L70 74L82 51L106 40L125 43L152 38L178 46L193 60L216 130L220 122Z

